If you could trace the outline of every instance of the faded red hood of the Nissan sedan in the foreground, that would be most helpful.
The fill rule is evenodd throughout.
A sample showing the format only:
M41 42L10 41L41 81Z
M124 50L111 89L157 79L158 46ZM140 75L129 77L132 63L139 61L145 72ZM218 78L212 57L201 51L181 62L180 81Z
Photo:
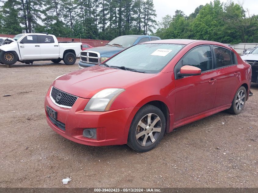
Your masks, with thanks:
M71 95L91 98L105 88L126 89L153 75L97 65L65 74L57 78L53 86Z

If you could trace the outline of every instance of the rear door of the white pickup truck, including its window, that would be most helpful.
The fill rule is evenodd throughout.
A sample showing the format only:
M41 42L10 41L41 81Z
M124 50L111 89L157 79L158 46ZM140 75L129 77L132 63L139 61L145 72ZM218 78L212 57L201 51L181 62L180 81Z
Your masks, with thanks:
M59 45L55 42L53 36L39 35L41 59L58 59Z

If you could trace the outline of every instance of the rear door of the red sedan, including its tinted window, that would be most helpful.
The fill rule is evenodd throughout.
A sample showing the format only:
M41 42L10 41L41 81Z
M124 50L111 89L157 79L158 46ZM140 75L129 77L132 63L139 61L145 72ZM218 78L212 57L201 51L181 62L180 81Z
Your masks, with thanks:
M232 102L235 91L241 82L241 68L237 65L237 59L231 50L213 46L213 51L218 73L217 92L214 102L214 108L216 108Z

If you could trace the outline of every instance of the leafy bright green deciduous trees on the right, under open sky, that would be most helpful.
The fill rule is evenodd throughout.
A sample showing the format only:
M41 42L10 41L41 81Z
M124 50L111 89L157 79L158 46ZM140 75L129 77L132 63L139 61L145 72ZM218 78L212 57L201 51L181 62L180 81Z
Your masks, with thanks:
M250 14L243 5L219 0L198 6L186 16L176 10L159 22L155 33L162 39L198 39L222 43L257 43L258 15Z

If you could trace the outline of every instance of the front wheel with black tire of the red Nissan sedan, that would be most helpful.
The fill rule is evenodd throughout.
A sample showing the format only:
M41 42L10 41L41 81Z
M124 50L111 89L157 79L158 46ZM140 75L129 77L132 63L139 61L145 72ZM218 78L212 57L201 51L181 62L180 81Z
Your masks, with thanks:
M148 120L149 115L150 121ZM159 118L159 120L157 118ZM154 123L156 119L158 121ZM145 122L143 123L142 120ZM139 123L143 123L141 124L143 127L141 127ZM144 105L142 108L139 109L139 111L133 118L128 133L127 145L137 152L150 151L151 149L155 148L163 138L165 126L166 120L162 111L153 105ZM138 138L136 138L136 135L138 135Z

